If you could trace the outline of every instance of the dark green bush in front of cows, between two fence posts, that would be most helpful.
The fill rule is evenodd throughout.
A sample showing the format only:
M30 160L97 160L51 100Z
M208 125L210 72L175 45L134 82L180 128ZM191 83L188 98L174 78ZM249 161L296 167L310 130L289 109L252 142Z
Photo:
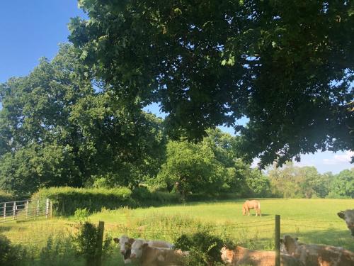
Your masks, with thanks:
M190 256L186 258L186 265L223 265L220 250L224 241L207 232L181 235L176 240L176 248L188 251Z

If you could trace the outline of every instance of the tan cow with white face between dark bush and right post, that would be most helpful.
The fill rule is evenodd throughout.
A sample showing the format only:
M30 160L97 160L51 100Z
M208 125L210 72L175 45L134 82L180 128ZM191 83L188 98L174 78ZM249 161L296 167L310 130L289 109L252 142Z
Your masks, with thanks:
M234 250L222 248L222 261L227 265L275 266L275 251L249 250L236 246ZM280 254L282 266L304 266L297 258Z

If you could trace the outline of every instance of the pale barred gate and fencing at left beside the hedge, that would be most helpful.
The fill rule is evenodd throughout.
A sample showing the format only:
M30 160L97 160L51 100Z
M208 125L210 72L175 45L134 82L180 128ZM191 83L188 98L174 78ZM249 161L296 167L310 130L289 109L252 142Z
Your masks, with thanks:
M0 202L0 223L43 217L52 217L52 201L50 199Z

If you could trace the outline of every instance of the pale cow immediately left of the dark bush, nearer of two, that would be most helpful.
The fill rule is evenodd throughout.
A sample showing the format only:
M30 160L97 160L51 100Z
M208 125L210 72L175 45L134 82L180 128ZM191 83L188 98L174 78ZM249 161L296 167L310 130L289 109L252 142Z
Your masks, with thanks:
M184 258L188 255L182 250L152 247L144 240L135 240L131 248L130 257L138 260L142 266L183 265Z

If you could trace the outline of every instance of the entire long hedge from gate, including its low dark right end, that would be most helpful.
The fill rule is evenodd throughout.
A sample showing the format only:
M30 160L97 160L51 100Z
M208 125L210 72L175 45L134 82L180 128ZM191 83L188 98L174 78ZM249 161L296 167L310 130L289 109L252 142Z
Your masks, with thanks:
M106 188L74 188L50 187L40 189L32 195L31 200L50 199L56 215L71 216L76 209L88 209L90 212L105 209L118 209L123 206L156 206L178 202L178 196L166 192L149 192L145 188L137 188L132 192L127 187Z

